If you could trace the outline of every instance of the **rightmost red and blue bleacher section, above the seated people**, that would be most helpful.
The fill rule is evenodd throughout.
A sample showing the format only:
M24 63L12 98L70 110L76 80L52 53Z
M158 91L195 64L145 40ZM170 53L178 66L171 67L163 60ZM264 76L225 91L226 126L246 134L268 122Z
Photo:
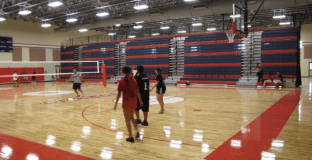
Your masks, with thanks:
M280 71L285 78L297 74L298 28L265 30L261 39L261 66L264 74Z

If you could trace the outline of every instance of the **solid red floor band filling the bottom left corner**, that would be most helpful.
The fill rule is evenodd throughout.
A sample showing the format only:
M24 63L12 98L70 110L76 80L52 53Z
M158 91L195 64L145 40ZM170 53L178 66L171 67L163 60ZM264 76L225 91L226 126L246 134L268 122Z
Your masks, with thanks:
M7 146L12 149L12 155L9 159L23 160L28 154L36 154L39 159L56 160L56 159L72 159L72 160L93 160L85 156L73 154L60 149L48 147L39 143L30 142L24 139L0 133L0 148ZM2 157L2 153L0 155ZM6 159L6 158L5 158Z

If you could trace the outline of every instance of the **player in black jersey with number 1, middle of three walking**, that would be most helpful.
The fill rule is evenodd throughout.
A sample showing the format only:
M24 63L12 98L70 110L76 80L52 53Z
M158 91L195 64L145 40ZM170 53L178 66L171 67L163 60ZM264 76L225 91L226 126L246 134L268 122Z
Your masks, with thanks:
M144 74L144 67L139 65L137 67L136 70L136 74L135 74L135 79L138 82L138 86L139 86L139 91L140 91L140 95L142 97L142 101L143 101L143 107L140 106L139 104L139 99L138 99L138 105L136 108L136 117L137 117L137 124L142 124L144 126L148 126L148 122L147 122L147 116L148 116L148 111L149 111L149 78L146 74ZM144 121L142 122L140 119L140 110L142 109L143 111L143 115L144 115Z

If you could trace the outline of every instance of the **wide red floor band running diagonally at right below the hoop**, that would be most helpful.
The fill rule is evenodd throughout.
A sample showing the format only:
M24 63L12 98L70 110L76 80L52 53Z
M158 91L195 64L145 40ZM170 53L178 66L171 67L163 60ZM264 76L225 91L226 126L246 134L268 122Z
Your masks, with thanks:
M291 91L277 101L243 130L224 142L205 159L209 160L256 160L267 151L281 132L290 115L297 107L301 91ZM241 142L241 147L232 147L232 140Z

